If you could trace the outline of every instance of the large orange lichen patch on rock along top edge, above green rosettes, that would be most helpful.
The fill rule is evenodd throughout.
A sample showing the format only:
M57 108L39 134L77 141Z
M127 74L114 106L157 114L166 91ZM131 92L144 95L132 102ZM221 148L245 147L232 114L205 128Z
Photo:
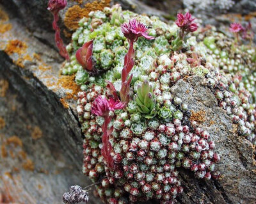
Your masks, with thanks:
M83 17L88 17L88 14L92 11L103 10L104 7L109 6L111 0L101 0L93 1L92 3L87 3L84 8L78 5L74 5L67 10L65 14L64 24L70 30L77 29L78 22Z

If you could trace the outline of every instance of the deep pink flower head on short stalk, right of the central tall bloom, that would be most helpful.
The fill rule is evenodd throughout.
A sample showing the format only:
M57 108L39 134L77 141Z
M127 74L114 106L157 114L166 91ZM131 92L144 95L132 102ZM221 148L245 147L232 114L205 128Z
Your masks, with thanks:
M185 13L185 15L182 13L177 14L175 23L180 27L180 39L184 40L184 36L197 30L198 25L193 22L194 20L195 18L193 18L189 12Z

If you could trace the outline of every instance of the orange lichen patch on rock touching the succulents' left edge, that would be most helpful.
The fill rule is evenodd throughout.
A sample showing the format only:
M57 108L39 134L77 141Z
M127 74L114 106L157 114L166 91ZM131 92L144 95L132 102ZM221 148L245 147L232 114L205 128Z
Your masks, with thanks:
M61 76L60 79L57 82L57 85L62 86L65 89L72 90L72 93L66 92L66 97L65 99L70 99L74 98L76 100L76 95L80 91L79 86L74 82L75 75L66 75L66 76Z

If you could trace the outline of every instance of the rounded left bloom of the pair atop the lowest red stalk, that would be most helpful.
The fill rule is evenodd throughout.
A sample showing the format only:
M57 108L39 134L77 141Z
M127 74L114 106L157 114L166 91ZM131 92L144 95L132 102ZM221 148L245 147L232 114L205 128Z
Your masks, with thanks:
M92 113L97 116L106 116L109 113L108 100L101 96L95 98L92 104Z

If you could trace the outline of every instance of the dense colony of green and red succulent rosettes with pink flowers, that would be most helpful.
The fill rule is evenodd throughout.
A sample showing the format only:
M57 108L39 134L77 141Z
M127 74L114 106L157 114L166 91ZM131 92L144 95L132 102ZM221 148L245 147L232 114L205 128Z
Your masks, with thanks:
M241 37L252 39L250 26L233 24L234 41L214 27L198 29L190 13L166 24L118 5L91 12L79 26L62 73L76 74L81 86L83 173L98 183L102 201L173 203L183 190L179 168L220 177L214 141L170 92L187 75L204 78L239 136L255 145L256 52L238 46Z

